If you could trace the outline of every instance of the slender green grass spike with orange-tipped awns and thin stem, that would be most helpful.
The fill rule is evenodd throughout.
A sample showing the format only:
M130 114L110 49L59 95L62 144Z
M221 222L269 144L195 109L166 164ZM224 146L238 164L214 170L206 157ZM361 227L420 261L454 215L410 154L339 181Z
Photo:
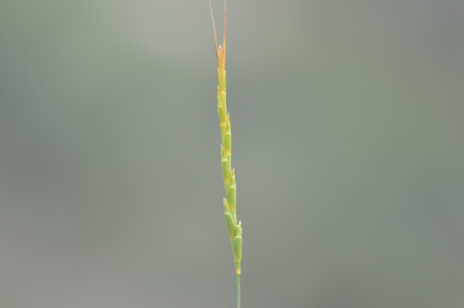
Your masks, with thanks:
M232 252L234 253L235 273L237 274L237 308L240 308L240 262L242 261L242 222L237 223L236 196L237 184L235 184L235 170L232 168L232 134L230 132L230 115L227 113L226 103L226 77L225 77L225 41L227 29L227 2L224 1L224 38L222 46L217 46L217 36L215 28L215 18L212 16L210 0L210 11L212 18L212 28L215 33L215 48L217 57L217 76L219 85L217 86L217 112L219 114L219 124L221 128L221 164L222 177L224 179L225 193L224 216L227 233L229 233Z

